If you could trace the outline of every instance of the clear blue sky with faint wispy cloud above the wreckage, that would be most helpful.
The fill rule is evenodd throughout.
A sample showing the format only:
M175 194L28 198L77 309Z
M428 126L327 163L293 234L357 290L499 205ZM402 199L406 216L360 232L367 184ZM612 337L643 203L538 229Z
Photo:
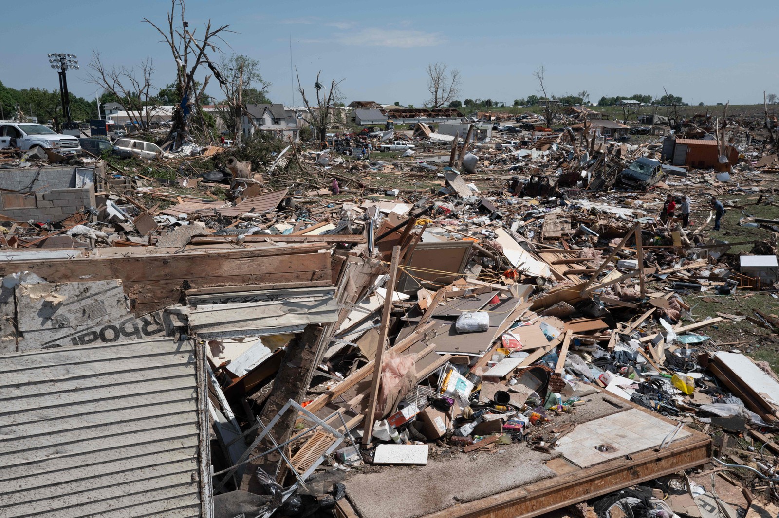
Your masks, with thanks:
M30 9L32 7L32 9ZM92 97L90 54L109 65L153 58L154 82L174 79L171 54L143 17L166 23L170 2L3 2L0 81L13 88L58 88L46 54L77 54L73 93ZM538 93L533 71L545 65L548 93L586 89L601 96L663 87L686 102L762 103L779 93L779 10L774 2L186 2L190 28L230 24L222 50L259 60L270 99L290 104L292 61L304 86L316 72L344 79L346 102L426 99L425 67L460 70L460 100L512 100ZM11 23L12 22L12 23ZM9 46L9 42L18 44ZM206 68L203 68L206 72ZM212 83L207 92L218 96ZM294 101L300 104L295 93Z

